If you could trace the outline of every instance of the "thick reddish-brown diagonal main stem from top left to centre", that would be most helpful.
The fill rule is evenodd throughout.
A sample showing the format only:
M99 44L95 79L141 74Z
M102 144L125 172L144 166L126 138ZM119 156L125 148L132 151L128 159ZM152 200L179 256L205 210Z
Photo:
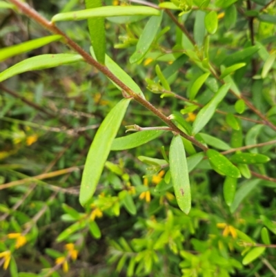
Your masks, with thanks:
M196 146L198 146L200 149L202 149L204 151L206 151L208 149L206 146L204 146L203 144L201 144L200 142L195 140L194 137L190 137L189 135L186 135L181 130L179 130L179 128L177 128L177 126L175 126L175 124L173 124L170 120L168 120L166 115L161 113L157 108L155 108L155 106L152 106L152 104L150 104L150 102L146 101L146 99L144 99L143 97L141 97L140 95L135 93L133 90L128 88L128 86L126 86L126 84L124 84L124 82L122 82L115 75L113 75L106 66L103 66L103 64L100 64L95 59L93 59L88 54L88 52L83 50L78 44L75 43L75 41L72 41L72 39L70 39L65 33L63 33L61 30L59 30L59 28L57 28L57 26L55 26L52 22L48 21L47 19L45 19L44 17L39 15L39 13L36 10L34 10L33 8L31 8L30 6L28 6L28 4L23 3L19 0L10 0L10 2L13 3L15 6L17 6L17 8L19 8L19 10L21 10L21 12L24 15L30 17L34 21L37 21L37 23L39 23L41 26L43 26L50 32L52 32L56 35L61 35L64 39L64 43L67 44L68 46L70 46L70 48L72 48L76 52L78 52L79 55L81 55L88 64L95 66L95 68L97 68L99 71L101 71L101 73L106 75L106 77L108 77L110 80L112 80L122 90L124 90L126 93L128 93L128 95L130 95L133 99L135 99L137 102L139 102L139 104L143 105L145 108L148 108L148 110L150 110L152 113L157 115L157 117L159 117L163 122L165 122L168 126L170 126L170 128L172 128L172 130L175 131L175 133L179 133L182 137L185 137L190 142L193 142L193 144L195 144Z

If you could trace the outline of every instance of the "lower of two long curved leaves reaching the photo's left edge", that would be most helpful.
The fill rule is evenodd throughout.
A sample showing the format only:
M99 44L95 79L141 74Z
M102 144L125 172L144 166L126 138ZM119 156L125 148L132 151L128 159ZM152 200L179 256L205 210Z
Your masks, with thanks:
M4 80L26 72L30 70L41 70L45 68L52 68L55 66L63 66L65 64L72 64L76 61L82 61L83 57L81 55L75 54L57 54L57 55L39 55L36 57L31 57L30 59L25 59L20 61L18 64L4 70L0 73L0 82Z

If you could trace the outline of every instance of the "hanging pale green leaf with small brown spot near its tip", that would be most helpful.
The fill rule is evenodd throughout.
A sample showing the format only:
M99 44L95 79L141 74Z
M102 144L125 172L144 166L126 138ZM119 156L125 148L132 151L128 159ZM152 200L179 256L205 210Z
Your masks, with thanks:
M180 135L172 138L170 144L170 174L175 197L181 211L188 213L191 207L190 180L186 153Z

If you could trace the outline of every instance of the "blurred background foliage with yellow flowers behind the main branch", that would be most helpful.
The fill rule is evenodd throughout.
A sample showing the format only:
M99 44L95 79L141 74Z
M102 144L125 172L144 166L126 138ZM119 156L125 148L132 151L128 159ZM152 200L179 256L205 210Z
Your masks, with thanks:
M218 29L210 36L208 50L215 68L233 52L251 46L249 26L253 24L257 51L242 59L246 66L232 77L239 90L276 124L274 1L226 1L231 2L227 7L205 1L209 6L207 3L201 9L199 2L194 1L193 10L181 15L179 21L185 22L197 42L203 42L195 21L210 10L217 12ZM84 8L81 0L28 3L48 19L57 12ZM151 3L158 5L158 1ZM106 0L104 4L130 2ZM269 20L257 18L260 10ZM172 12L177 18L179 12ZM155 66L164 71L191 49L190 42L164 13L151 50L139 64L130 64L129 57L147 20L106 20L107 52L135 79L146 99L170 115L190 104L150 91L157 84L152 83L157 77ZM37 23L9 9L0 9L0 26L1 48L48 35ZM89 51L86 21L66 21L58 26ZM198 46L195 53L200 55L202 49ZM28 57L69 51L53 42L1 62L0 70ZM274 60L269 73L261 77L262 67L271 56ZM201 74L190 55L168 83L172 91L187 97ZM83 210L78 200L83 164L95 131L121 99L121 92L95 68L80 62L17 75L0 84L0 93L1 276L276 276L274 162L252 166L270 179L242 178L238 188L244 190L239 191L236 207L228 207L223 196L224 177L211 171L203 160L190 173L193 209L187 216L177 207L167 169L137 159L163 159L161 147L168 153L172 137L165 133L137 149L112 151L92 204ZM197 102L204 105L212 95L204 85ZM228 95L219 109L238 115L236 101ZM193 122L196 113L193 109L186 113L186 122ZM237 120L242 128L235 131L229 125L233 120L228 118L227 123L224 114L216 113L204 133L233 147L242 146L233 142L233 134L247 140L246 145L276 139L275 131L248 108L242 116L249 120ZM132 124L146 127L162 123L132 102L123 125ZM124 135L124 126L118 136ZM275 160L274 144L251 151ZM193 154L193 149L188 154ZM244 260L248 253L248 260Z

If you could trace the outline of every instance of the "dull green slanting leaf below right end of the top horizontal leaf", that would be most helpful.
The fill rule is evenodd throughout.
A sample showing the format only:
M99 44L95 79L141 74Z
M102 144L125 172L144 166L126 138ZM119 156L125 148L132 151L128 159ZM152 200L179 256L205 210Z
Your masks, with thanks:
M148 21L148 23L146 23L146 26L141 33L141 36L139 37L136 51L130 57L130 64L134 64L135 62L143 59L146 55L146 52L148 52L148 50L150 49L152 41L154 41L155 36L157 35L157 32L159 30L159 26L162 21L162 15L163 13L161 13L161 15L159 15L158 17L150 17L150 20Z

